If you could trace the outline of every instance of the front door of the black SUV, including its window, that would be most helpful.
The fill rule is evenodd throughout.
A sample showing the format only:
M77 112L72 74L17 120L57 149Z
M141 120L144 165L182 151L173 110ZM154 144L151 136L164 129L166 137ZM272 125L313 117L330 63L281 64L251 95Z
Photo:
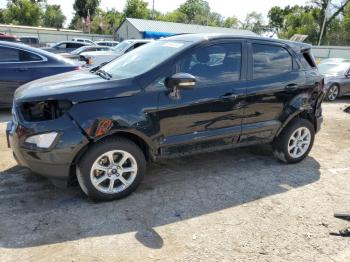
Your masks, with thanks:
M226 147L241 133L245 99L245 46L217 42L187 52L176 72L196 77L196 86L172 97L159 93L158 119L163 155Z

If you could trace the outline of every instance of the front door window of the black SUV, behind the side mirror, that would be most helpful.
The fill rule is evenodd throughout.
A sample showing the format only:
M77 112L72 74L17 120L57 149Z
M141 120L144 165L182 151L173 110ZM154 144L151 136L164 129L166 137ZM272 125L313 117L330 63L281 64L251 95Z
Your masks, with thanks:
M241 77L240 43L198 48L181 62L180 71L189 73L201 84L229 83Z

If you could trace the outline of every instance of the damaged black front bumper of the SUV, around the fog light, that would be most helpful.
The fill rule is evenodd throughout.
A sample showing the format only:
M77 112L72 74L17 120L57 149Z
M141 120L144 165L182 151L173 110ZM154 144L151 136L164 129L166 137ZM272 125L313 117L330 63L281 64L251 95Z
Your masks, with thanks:
M48 149L36 148L26 142L30 136L48 132L59 133ZM89 142L68 114L43 122L21 121L17 115L13 115L12 121L7 124L6 136L19 165L54 182L68 181L76 156Z

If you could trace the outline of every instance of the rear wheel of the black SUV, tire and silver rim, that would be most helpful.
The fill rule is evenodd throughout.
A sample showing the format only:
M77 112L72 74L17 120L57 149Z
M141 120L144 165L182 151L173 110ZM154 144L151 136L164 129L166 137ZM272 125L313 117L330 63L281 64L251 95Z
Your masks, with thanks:
M309 154L315 139L310 121L297 118L273 142L274 155L285 163L298 163Z

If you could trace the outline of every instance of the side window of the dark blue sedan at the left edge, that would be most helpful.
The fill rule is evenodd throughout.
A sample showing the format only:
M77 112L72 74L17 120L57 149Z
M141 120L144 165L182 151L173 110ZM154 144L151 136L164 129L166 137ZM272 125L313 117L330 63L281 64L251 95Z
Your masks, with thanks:
M0 47L0 63L6 62L35 62L41 57L19 49Z

